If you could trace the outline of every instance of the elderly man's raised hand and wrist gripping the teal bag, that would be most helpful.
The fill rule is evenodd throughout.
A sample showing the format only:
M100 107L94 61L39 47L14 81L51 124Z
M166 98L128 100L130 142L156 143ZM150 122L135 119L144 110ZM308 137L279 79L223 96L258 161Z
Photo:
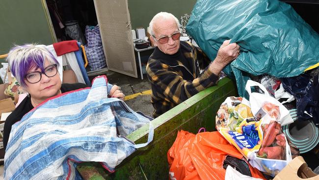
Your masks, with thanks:
M220 46L216 59L210 64L210 70L218 75L223 68L235 60L239 55L239 45L236 43L229 44L229 40L225 40Z

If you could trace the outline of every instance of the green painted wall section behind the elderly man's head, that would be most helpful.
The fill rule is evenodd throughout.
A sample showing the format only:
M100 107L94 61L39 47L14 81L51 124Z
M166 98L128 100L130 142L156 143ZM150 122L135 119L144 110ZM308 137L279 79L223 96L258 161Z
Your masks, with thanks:
M132 29L147 29L155 14L165 11L180 20L184 14L190 14L196 0L128 0Z

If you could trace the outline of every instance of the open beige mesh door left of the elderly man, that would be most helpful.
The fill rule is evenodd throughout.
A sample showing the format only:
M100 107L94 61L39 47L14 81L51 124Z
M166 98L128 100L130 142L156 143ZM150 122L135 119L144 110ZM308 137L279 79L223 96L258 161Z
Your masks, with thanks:
M137 78L127 0L94 0L108 69Z

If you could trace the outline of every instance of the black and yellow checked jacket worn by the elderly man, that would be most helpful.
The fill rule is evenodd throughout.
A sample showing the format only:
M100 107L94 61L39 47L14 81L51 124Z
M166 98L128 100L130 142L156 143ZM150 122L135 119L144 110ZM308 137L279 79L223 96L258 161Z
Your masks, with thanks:
M198 47L181 41L179 53L180 56L167 55L156 47L148 60L146 71L152 87L154 118L218 81L218 76L207 68L211 61ZM183 55L185 58L181 58ZM200 69L204 69L201 74Z

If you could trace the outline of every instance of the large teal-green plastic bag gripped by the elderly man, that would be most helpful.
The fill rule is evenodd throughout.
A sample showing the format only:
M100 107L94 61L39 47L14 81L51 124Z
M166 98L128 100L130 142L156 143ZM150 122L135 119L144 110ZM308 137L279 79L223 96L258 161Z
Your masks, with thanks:
M287 3L278 0L197 0L186 31L214 60L232 39L240 55L224 72L245 95L249 76L293 77L319 62L319 35Z

